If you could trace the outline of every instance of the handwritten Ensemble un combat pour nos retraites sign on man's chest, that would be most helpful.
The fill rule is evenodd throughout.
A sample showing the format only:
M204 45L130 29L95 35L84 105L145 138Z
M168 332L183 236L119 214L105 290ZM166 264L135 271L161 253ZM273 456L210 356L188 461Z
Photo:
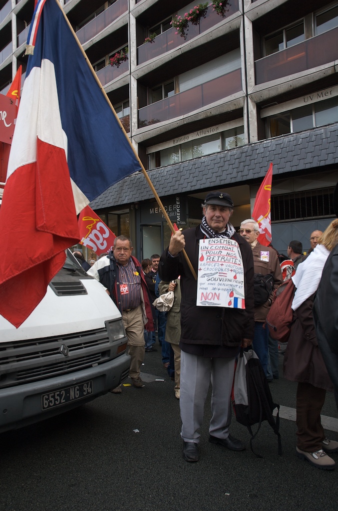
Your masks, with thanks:
M196 305L245 309L244 269L237 241L200 240Z

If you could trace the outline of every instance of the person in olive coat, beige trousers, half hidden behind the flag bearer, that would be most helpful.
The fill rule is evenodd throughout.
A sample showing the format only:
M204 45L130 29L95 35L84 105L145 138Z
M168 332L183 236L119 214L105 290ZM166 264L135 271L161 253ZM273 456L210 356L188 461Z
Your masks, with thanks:
M174 292L174 303L171 309L167 312L167 324L166 324L166 336L165 340L171 346L169 366L173 365L173 375L175 380L175 398L179 399L179 382L181 376L181 349L179 347L179 341L181 339L181 282L177 278L172 282L160 281L159 293L164 294L168 291ZM170 371L168 371L171 376Z

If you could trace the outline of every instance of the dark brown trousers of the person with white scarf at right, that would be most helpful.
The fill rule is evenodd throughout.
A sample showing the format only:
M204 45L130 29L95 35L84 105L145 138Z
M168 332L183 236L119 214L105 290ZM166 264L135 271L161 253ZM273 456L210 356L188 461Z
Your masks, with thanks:
M310 383L298 383L297 387L297 447L301 451L316 452L322 449L325 438L321 423L321 411L326 390Z

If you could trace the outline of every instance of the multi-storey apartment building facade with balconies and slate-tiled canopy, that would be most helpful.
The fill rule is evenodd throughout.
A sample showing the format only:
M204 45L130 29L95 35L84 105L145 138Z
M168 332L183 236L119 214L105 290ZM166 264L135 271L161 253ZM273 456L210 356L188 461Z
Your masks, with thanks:
M211 0L61 4L172 222L196 225L201 199L222 190L234 200L238 227L272 161L273 245L285 253L298 239L309 249L311 231L334 217L338 1L230 0L224 15ZM195 6L202 16L177 33L171 20ZM0 8L6 93L18 66L26 68L34 0L3 0ZM91 205L132 238L139 258L169 240L142 173Z

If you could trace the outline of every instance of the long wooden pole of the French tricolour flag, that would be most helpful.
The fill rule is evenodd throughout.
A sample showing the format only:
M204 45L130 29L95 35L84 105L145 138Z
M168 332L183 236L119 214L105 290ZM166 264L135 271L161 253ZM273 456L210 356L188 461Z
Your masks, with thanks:
M175 234L175 232L176 232L176 231L175 231L174 226L172 225L172 222L171 222L171 220L170 220L170 218L169 218L169 216L168 216L168 214L167 214L167 212L166 212L166 210L165 210L165 208L164 208L164 206L163 206L163 204L162 204L162 201L161 201L161 199L160 199L159 195L157 194L157 192L156 192L156 190L155 190L155 188L154 188L154 185L152 184L152 182L151 182L151 180L150 180L150 177L148 176L148 174L147 174L147 172L146 172L146 170L145 170L145 168L144 168L144 166L143 166L143 163L142 163L142 161L141 161L141 159L140 159L140 157L139 157L138 153L136 152L136 150L135 150L134 146L132 145L132 143L131 143L131 141L130 141L130 138L128 137L128 135L127 135L127 133L126 133L126 130L124 129L124 127L123 127L123 125L122 125L122 123L121 123L120 119L118 118L118 115L117 115L117 113L116 113L116 111L115 111L114 107L112 106L112 104L111 104L111 102L110 102L110 100L109 100L109 98L108 98L108 96L107 96L106 91L104 90L104 88L103 88L103 86L102 86L102 84L101 84L101 82L100 82L100 80L99 80L99 78L98 78L97 74L95 73L94 68L93 68L93 66L92 66L92 64L91 64L91 61L89 61L89 59L88 59L88 57L87 57L87 55L86 55L85 51L83 50L82 45L81 45L81 43L80 43L80 41L79 41L79 39L78 39L78 37L77 37L77 35L76 35L76 33L75 33L75 31L74 31L74 29L73 29L72 25L71 25L70 20L67 18L67 15L66 15L66 13L64 12L64 10L62 9L62 7L61 7L61 5L60 5L59 1L58 1L58 0L55 0L55 2L58 4L59 8L61 9L62 14L63 14L63 16L64 16L64 19L66 20L67 25L69 26L69 28L70 28L70 30L71 30L71 32L72 32L72 34L73 34L73 36L74 36L74 38L75 38L75 40L76 40L77 44L78 44L78 47L80 48L81 53L82 53L82 55L83 55L83 57L84 57L85 61L87 62L88 66L89 66L89 69L91 69L91 72L92 72L92 74L93 74L93 76L94 76L94 78L95 78L95 81L97 82L98 86L100 87L100 89L101 89L101 92L102 92L103 96L105 97L105 99L106 99L106 101L107 101L107 103L108 103L108 105L109 105L109 107L110 107L110 109L111 109L112 113L114 113L115 118L116 118L117 122L119 123L120 128L122 129L122 131L123 131L123 133L124 133L125 137L127 138L127 141L128 141L128 143L129 143L129 145L130 145L130 147L131 147L131 149L132 149L132 151L133 151L134 155L136 156L136 158L137 158L137 160L138 160L139 164L140 164L140 167L141 167L142 173L143 173L144 177L146 178L146 180L147 180L147 182L148 182L148 184L149 184L149 187L150 187L150 189L151 189L152 193L154 194L154 197L155 197L155 199L156 199L157 204L159 204L159 206L160 206L161 212L163 213L163 216L164 216L164 218L166 219L166 221L167 221L167 223L168 223L168 225L169 225L169 227L170 227L171 232L172 232L173 234ZM188 258L188 254L187 254L187 252L185 251L185 249L183 249L183 254L184 254L184 257L186 258L186 261L187 261L187 263L188 263L188 266L189 266L189 268L190 268L191 273L193 274L193 276L194 276L195 280L197 280L196 272L195 272L195 270L194 270L194 268L193 268L193 266L192 266L192 264L191 264L190 259Z

